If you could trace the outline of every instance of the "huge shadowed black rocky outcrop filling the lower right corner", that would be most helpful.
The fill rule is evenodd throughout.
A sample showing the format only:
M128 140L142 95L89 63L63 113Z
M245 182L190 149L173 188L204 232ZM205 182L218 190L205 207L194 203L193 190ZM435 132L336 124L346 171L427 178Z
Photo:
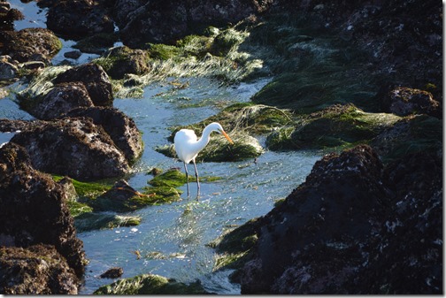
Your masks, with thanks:
M242 294L442 293L441 164L384 167L365 145L323 157L258 219Z

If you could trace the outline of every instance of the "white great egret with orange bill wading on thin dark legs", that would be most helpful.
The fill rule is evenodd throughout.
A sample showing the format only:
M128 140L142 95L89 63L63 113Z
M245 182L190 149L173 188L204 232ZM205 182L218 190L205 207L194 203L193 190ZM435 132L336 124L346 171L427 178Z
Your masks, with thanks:
M178 158L184 164L184 170L186 171L186 180L188 181L188 163L192 161L194 163L194 168L196 171L196 156L198 153L206 147L206 145L211 140L211 133L217 132L219 134L223 134L227 141L231 144L234 142L231 140L229 135L225 133L223 127L217 123L212 122L210 125L204 127L203 134L199 140L196 137L196 134L193 130L190 129L181 129L175 134L173 138L173 142L175 143L175 151L177 153ZM198 171L196 171L196 186L197 186L197 196L200 195L200 181L198 180ZM189 190L188 190L189 195Z

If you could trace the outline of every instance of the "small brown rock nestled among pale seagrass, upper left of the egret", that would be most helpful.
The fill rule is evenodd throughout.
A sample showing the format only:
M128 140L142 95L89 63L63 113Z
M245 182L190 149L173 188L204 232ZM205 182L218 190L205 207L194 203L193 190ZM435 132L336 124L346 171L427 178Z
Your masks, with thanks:
M113 48L97 60L113 79L122 79L127 73L143 74L150 70L149 56L144 50L131 50L125 46ZM111 62L111 63L110 63Z

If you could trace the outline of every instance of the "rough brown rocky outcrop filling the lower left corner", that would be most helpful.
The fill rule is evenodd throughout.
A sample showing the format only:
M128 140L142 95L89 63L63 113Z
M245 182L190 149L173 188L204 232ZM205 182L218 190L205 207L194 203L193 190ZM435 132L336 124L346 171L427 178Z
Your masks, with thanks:
M72 285L78 285L72 271L80 277L86 259L66 206L64 188L50 175L36 171L25 149L12 142L0 149L0 204L0 246L7 247L0 250L0 284L6 280L5 293L37 294L39 288L42 294L56 294L51 291L58 287L59 293L72 293ZM50 247L30 248L38 244ZM23 254L28 254L29 259ZM17 258L17 262L8 256ZM45 272L50 276L27 284L30 276ZM49 282L52 289L42 289Z

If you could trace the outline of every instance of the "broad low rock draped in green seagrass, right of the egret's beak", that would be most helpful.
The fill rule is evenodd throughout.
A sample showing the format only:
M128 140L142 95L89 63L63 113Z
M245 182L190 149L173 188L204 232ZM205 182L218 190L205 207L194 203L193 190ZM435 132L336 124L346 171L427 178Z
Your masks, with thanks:
M269 149L324 149L350 147L371 141L400 117L386 113L367 113L353 104L336 104L314 112L294 127L284 127L270 134Z

